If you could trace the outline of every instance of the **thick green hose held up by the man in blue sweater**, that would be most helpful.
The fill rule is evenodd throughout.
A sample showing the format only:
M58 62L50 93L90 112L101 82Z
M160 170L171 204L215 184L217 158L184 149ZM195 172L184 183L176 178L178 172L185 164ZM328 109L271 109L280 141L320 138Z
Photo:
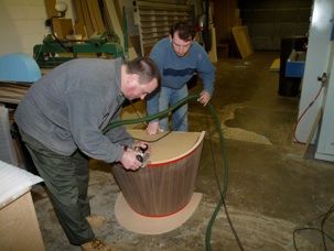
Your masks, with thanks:
M197 100L200 97L201 97L201 95L190 95L190 96L181 99L174 106L171 106L169 109L166 109L164 111L160 111L160 112L158 112L155 114L151 114L151 116L148 116L148 117L144 117L144 118L139 118L139 119L129 119L129 120L119 120L119 121L116 121L116 122L110 123L109 126L107 126L103 130L103 132L106 133L109 130L111 130L114 128L117 128L117 127L120 127L120 126L132 124L132 123L140 123L140 122L150 121L150 120L153 120L153 119L166 116L171 111L175 110L176 108L179 108L182 105L184 105L185 102L187 102L190 99L196 99ZM217 130L218 130L218 133L219 133L219 140L220 140L220 145L222 145L222 151L223 151L223 156L224 156L224 166L225 166L224 188L223 188L223 192L220 194L220 199L219 199L219 201L218 201L218 204L217 204L217 206L216 206L216 208L214 210L214 214L213 214L213 216L212 216L212 218L211 218L211 220L208 222L208 226L207 226L207 229L206 229L206 234L205 234L206 250L212 250L211 243L209 243L212 228L214 226L215 219L216 219L216 217L218 215L218 211L219 211L220 207L225 203L225 197L226 197L226 193L227 193L227 185L228 185L228 162L227 162L227 154L226 154L226 150L225 150L225 140L224 140L224 137L223 137L223 131L222 131L222 126L220 126L219 119L217 117L217 113L215 112L214 107L209 102L206 105L206 107L209 109L212 116L215 119L215 123L216 123L216 127L217 127Z

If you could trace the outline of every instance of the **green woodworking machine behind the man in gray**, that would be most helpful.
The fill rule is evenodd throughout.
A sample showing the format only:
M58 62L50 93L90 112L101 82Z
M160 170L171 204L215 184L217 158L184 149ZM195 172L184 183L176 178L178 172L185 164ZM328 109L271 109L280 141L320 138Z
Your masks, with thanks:
M77 57L91 57L91 54L107 58L125 57L119 36L114 31L105 31L88 40L60 40L51 33L44 37L43 44L33 47L40 68L53 68Z

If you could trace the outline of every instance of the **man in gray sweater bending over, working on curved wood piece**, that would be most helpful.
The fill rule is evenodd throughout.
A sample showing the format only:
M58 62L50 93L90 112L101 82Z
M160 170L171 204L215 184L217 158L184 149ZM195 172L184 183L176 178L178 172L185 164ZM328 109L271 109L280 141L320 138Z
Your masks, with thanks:
M126 98L144 99L159 83L159 68L150 58L73 59L34 83L18 106L14 119L22 140L69 242L83 250L111 250L91 230L106 219L90 214L88 157L120 162L132 171L142 165L138 153L123 145L146 148L146 142L133 144L123 127L103 130L120 120Z

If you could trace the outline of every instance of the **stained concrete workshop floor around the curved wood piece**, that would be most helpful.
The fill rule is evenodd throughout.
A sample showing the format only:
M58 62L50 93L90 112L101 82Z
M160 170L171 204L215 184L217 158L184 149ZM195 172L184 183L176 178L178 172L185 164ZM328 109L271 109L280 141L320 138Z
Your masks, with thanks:
M279 74L269 72L278 57L277 52L257 52L246 59L222 58L215 64L215 95L211 103L223 128L225 148L207 109L190 102L190 131L206 131L195 187L203 197L180 228L147 236L121 227L114 215L118 185L108 164L93 161L93 212L107 217L107 225L95 230L96 234L121 250L200 251L206 249L206 237L212 250L295 250L294 229L320 229L324 214L334 205L334 163L314 160L312 146L304 154L305 146L293 142L299 97L278 95ZM201 87L198 80L190 92L198 94ZM207 234L223 186L227 186L225 201L233 228L220 207ZM32 192L46 250L80 250L68 243L44 187L37 185ZM328 218L323 227L332 237L333 226ZM326 250L317 230L299 231L295 244L298 250ZM326 244L327 250L334 250L328 239Z

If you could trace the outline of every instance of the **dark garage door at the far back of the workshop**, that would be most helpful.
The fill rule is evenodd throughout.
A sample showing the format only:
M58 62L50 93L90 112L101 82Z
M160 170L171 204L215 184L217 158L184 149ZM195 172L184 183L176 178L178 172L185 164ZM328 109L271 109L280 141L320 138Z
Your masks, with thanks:
M306 35L313 0L239 0L254 50L280 50L281 37Z

